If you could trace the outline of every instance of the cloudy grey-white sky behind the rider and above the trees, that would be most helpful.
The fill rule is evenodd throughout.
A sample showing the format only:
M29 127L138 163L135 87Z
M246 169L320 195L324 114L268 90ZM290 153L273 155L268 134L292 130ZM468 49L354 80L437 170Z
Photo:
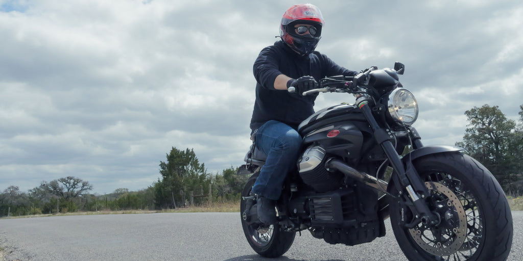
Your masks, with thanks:
M460 141L474 106L518 118L523 4L313 1L317 50L348 69L405 64L425 144ZM211 173L250 145L259 51L294 1L0 0L0 191L64 176L99 194L160 177L172 147ZM321 94L315 109L354 98Z

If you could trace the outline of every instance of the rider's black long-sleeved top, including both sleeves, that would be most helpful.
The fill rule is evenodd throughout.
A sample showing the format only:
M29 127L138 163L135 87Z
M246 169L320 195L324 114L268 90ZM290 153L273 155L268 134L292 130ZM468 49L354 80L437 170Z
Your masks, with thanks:
M254 62L256 100L254 102L251 129L254 131L269 120L285 123L294 129L314 113L317 93L302 97L286 90L274 89L276 76L287 75L297 79L309 75L317 81L326 76L355 76L357 73L341 67L326 55L314 51L300 56L282 41L261 50Z

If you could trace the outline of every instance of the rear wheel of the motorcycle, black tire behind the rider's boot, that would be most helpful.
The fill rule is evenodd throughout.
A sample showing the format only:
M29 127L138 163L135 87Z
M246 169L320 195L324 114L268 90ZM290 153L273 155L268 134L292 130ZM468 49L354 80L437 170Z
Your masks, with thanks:
M247 181L242 197L248 197L251 194L254 182L258 173ZM245 211L246 200L242 199L240 204L240 213ZM263 257L279 257L289 250L294 242L296 232L285 232L281 230L279 224L270 225L267 228L259 228L257 224L247 224L242 218L242 227L245 238L253 250Z

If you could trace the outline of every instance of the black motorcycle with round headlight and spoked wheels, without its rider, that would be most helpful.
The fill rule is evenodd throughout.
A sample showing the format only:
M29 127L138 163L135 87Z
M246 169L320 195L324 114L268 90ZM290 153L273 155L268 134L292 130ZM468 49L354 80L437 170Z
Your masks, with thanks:
M252 187L266 155L253 144L238 174L250 174L241 200L245 237L263 257L289 250L308 230L330 244L356 245L392 231L419 260L506 260L513 221L505 194L478 161L451 146L424 146L412 124L418 104L394 69L321 79L304 92L353 94L355 104L322 109L305 121L296 170L277 200L277 223L258 220ZM289 91L293 91L292 87Z

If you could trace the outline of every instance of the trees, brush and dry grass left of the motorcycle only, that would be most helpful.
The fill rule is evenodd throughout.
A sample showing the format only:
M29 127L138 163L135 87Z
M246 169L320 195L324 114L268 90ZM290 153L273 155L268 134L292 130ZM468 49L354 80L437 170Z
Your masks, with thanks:
M0 194L0 217L239 211L240 193L248 176L236 172L237 168L231 167L211 175L194 150L173 147L166 161L160 161L161 178L145 189L118 188L110 194L91 194L93 185L73 176L43 181L27 193L13 185Z

